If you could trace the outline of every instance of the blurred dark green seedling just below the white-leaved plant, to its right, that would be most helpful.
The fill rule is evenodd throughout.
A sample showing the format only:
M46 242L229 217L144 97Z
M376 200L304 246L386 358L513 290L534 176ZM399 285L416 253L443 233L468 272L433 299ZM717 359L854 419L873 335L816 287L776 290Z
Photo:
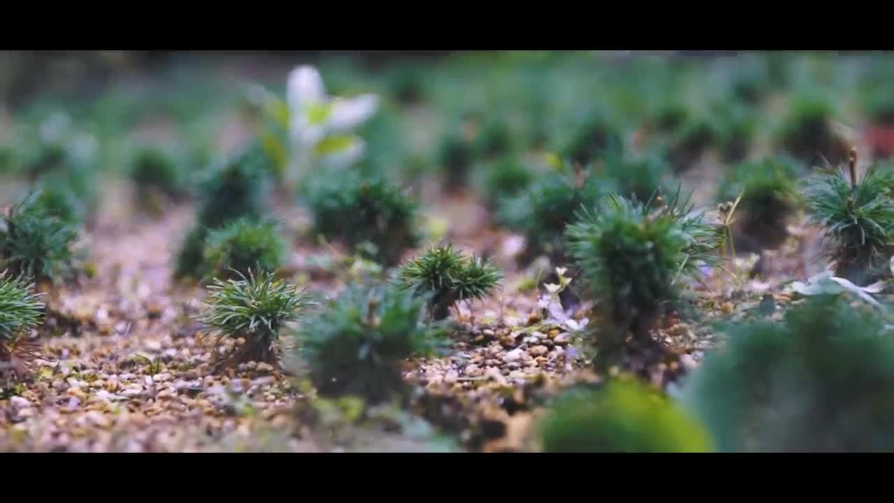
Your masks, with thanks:
M419 242L417 202L382 177L333 175L312 188L314 232L386 266Z

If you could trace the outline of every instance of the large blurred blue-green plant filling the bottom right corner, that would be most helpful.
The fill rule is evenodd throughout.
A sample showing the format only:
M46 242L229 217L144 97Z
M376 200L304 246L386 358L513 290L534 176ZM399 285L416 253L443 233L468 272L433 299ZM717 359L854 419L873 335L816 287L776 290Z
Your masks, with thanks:
M783 322L725 330L683 401L724 452L890 452L894 339L847 295L818 295Z

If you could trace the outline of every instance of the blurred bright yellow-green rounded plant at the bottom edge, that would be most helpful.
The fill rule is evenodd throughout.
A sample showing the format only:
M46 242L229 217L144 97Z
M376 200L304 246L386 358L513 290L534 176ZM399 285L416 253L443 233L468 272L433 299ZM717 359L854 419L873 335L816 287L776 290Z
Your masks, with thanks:
M544 452L711 452L710 434L682 406L635 380L561 396L539 425Z

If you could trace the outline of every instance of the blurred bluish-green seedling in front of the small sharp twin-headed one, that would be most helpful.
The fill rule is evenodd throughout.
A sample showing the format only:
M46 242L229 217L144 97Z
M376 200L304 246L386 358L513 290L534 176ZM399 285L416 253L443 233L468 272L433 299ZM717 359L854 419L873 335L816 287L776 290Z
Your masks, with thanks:
M354 284L299 327L300 361L321 396L400 394L401 364L437 349L443 326L426 322L426 297Z

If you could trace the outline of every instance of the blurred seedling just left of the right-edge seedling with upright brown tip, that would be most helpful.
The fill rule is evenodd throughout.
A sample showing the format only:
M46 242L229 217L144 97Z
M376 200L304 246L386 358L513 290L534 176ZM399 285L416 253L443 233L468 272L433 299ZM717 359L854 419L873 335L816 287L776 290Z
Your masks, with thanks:
M751 251L776 248L789 234L788 218L800 203L797 176L800 169L793 159L767 157L734 166L724 177L718 190L719 202L736 200L742 195L738 209L739 242L754 243ZM740 248L748 251L746 248Z

